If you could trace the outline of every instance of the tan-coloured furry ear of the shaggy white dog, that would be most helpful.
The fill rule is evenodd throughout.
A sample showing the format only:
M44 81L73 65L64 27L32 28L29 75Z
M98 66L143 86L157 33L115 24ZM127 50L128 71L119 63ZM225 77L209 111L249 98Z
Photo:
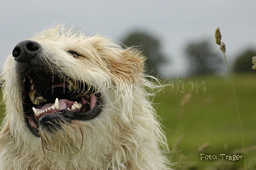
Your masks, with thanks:
M118 55L108 59L115 79L137 82L144 72L145 57L131 48L121 50Z

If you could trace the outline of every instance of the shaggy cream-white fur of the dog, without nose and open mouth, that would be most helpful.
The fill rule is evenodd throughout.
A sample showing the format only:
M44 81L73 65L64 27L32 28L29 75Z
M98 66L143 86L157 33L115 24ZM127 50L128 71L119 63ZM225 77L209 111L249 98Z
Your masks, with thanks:
M0 133L0 169L169 169L165 135L142 86L144 57L100 36L57 27L36 35L41 61L102 92L103 111L89 121L63 124L65 130L36 137L24 122L15 60L2 72L6 117ZM66 50L84 57L73 58ZM42 143L44 142L44 143ZM46 144L47 148L45 148ZM51 151L50 151L51 150Z

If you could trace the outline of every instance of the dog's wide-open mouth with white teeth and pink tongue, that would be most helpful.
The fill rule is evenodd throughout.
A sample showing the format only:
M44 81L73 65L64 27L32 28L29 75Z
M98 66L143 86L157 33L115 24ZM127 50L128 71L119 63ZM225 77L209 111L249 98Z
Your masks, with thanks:
M102 110L96 88L79 80L37 71L25 78L23 108L32 133L56 121L90 120Z

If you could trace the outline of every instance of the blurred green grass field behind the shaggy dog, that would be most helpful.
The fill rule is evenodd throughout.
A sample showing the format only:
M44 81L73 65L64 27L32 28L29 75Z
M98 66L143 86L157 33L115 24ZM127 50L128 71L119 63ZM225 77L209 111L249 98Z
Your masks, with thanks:
M233 81L240 108L247 169L256 169L256 73L235 75ZM168 81L171 82L173 87L165 87L154 97L154 107L173 151L170 159L177 162L175 167L244 169L243 157L232 161L222 160L220 156L242 155L240 123L229 77L178 78ZM2 106L0 111L3 112ZM201 160L200 154L215 155L217 159Z

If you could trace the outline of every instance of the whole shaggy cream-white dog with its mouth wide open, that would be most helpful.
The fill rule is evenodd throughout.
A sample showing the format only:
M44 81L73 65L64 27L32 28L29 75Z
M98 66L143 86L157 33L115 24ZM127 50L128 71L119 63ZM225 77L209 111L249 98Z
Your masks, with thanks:
M0 169L169 169L144 57L62 27L19 42L3 71Z

